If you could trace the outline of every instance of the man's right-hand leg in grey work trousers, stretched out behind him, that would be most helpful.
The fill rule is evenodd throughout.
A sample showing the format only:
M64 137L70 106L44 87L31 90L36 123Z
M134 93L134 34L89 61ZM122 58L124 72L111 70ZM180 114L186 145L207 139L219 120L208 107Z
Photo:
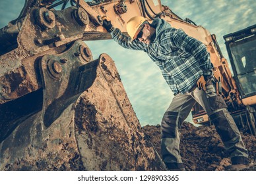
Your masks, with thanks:
M228 112L224 99L221 95L216 95L212 81L207 81L206 91L196 88L191 95L203 106L210 122L216 127L216 131L230 154L232 164L247 164L248 152L241 140L240 131Z

